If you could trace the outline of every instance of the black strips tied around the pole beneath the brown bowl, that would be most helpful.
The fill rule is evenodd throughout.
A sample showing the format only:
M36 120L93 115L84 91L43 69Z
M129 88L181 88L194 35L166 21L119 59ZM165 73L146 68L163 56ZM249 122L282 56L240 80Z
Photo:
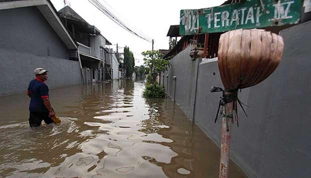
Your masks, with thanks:
M236 119L237 125L239 127L239 116L238 116L238 110L237 110L237 103L239 103L239 105L241 106L241 108L244 111L244 114L246 115L246 117L247 117L247 114L245 112L245 109L244 109L243 105L245 105L247 107L249 107L249 106L244 104L238 98L238 88L231 90L231 89L226 89L226 88L223 89L221 87L212 86L210 91L211 92L220 92L220 91L222 91L222 96L220 97L220 100L219 100L218 109L217 109L217 113L216 113L216 117L215 117L215 121L214 122L216 123L216 121L218 119L218 114L219 114L220 106L222 106L221 112L222 112L223 116L226 117L226 127L227 127L227 131L229 131L229 118L232 118L232 121L233 121L233 114L227 114L226 113L226 103L233 102L233 110L235 111L235 119Z

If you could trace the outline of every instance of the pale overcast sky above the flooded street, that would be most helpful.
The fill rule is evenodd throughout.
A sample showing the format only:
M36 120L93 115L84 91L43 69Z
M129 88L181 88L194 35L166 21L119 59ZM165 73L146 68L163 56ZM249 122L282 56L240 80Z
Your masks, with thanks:
M57 10L64 7L64 0L51 0ZM151 50L147 42L110 20L88 0L67 0L70 7L91 25L95 25L111 43L110 48L129 46L134 53L135 65L143 64L141 52ZM118 18L134 30L154 39L154 49L168 49L170 25L179 24L181 9L199 9L218 6L225 0L99 0ZM123 51L123 48L119 49Z

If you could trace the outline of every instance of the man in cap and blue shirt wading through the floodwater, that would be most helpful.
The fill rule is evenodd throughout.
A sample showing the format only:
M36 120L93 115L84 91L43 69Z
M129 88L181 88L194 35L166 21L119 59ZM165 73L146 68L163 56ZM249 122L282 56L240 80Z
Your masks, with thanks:
M29 125L37 127L42 120L46 124L53 123L51 116L55 112L49 100L49 87L44 83L48 79L48 70L36 68L36 78L31 80L27 89L27 95L31 98L29 103Z

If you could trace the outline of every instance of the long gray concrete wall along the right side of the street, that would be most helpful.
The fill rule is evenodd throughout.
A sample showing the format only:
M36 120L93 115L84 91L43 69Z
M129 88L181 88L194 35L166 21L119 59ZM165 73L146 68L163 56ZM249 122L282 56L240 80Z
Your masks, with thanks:
M239 110L240 127L232 128L231 158L249 177L309 177L311 160L311 22L282 30L284 54L280 65L266 80L256 86L243 89L239 98L248 118ZM185 50L172 59L169 69L169 88L178 83L176 101L187 111L185 103L190 91L189 81L195 80L188 69L179 69L176 61L183 63L189 51ZM216 61L203 61L198 72L198 89L194 122L220 145L220 121L214 123L221 93L210 93L211 86L222 86ZM165 79L166 86L166 79ZM169 89L170 95L173 90ZM191 117L190 117L191 118Z

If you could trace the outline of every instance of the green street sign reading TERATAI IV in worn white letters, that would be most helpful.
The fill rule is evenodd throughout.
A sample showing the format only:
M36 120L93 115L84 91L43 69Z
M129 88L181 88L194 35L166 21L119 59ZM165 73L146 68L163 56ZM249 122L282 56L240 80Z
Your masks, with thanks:
M245 0L222 6L181 10L181 35L296 24L301 0ZM264 6L264 8L263 8Z

